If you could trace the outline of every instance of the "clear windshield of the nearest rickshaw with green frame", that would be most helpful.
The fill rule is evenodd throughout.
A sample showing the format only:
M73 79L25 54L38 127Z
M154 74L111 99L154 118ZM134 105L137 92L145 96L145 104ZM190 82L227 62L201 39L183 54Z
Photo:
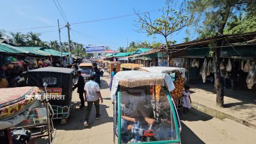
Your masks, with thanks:
M176 130L179 128L175 127L163 86L121 86L119 101L121 143L178 139Z

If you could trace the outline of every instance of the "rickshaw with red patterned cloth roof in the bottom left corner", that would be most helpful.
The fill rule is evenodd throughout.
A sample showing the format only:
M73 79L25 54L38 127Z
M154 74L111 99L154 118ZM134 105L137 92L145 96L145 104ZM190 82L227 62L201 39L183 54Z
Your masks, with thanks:
M0 143L36 143L45 137L53 143L56 129L45 94L31 86L1 88Z

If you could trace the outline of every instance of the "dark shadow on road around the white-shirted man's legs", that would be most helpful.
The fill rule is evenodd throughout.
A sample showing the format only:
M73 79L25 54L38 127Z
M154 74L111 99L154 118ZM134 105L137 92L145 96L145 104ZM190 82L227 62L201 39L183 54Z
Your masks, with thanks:
M54 128L57 130L65 130L65 131L76 131L76 130L83 130L84 129L84 116L86 113L86 108L76 110L73 109L70 113L70 117L68 117L67 124L61 125L60 120L54 120ZM109 108L109 106L106 106L104 104L100 104L100 119L95 120L96 110L95 106L93 104L90 118L89 118L89 125L90 127L95 127L97 125L106 124L108 122L113 122L113 116L109 116L106 109ZM90 128L89 127L89 128Z

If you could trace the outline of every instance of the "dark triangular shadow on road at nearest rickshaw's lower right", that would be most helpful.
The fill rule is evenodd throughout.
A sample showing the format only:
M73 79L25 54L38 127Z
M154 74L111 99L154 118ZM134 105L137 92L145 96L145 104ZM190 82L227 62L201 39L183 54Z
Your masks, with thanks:
M180 133L180 139L182 144L205 144L204 141L202 141L196 134L187 127L183 122L181 122L182 125L182 131Z

